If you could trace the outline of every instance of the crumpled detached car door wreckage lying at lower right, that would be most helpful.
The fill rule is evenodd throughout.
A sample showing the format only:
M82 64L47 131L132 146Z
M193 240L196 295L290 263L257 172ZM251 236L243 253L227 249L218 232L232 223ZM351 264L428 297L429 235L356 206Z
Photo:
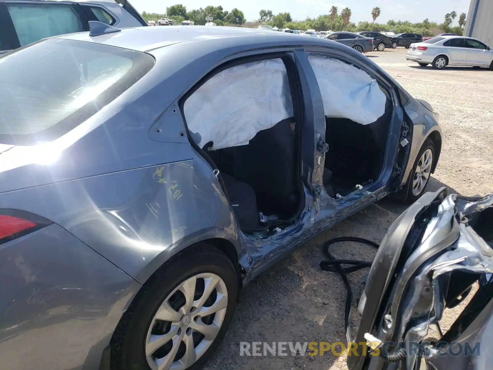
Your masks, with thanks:
M350 370L491 369L493 195L426 193L389 228L361 295ZM472 298L447 330L445 308ZM431 325L440 338L429 338Z

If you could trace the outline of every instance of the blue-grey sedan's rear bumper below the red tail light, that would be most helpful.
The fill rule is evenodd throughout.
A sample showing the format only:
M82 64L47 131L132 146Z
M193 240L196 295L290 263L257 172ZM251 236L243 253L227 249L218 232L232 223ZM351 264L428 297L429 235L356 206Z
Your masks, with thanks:
M137 283L52 224L0 245L2 370L98 369Z

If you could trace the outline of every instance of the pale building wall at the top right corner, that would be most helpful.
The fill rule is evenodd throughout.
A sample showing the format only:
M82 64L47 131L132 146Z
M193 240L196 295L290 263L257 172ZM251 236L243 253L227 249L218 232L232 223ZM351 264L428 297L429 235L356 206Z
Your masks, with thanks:
M493 0L471 0L464 36L477 38L493 48Z

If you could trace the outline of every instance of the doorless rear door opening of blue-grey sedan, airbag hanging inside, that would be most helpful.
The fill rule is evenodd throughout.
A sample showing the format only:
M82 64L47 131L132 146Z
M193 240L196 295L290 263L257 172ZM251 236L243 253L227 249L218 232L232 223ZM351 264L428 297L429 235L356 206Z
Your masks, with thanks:
M291 224L304 201L301 125L281 58L213 74L184 102L192 140L219 170L244 232Z

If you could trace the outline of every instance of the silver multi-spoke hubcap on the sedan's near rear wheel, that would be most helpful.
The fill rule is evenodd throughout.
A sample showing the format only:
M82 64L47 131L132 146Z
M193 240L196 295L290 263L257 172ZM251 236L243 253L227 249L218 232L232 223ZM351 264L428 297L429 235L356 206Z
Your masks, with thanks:
M152 370L184 370L211 346L228 306L226 284L213 273L180 283L161 303L144 343Z

